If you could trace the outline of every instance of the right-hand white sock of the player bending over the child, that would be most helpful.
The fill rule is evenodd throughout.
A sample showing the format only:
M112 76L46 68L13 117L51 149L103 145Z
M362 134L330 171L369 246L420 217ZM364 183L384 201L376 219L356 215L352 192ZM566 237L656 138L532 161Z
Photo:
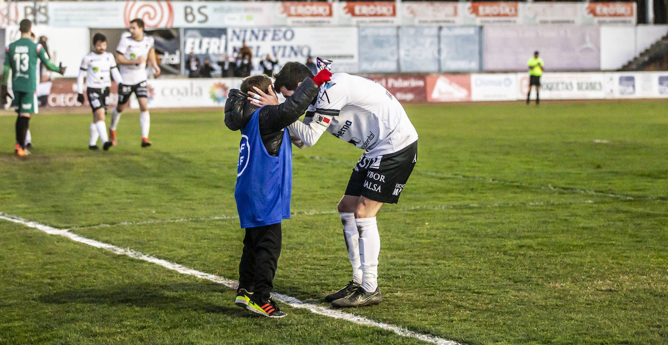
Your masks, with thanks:
M355 220L359 231L359 258L362 264L362 284L366 292L378 288L378 254L380 253L380 235L375 217Z

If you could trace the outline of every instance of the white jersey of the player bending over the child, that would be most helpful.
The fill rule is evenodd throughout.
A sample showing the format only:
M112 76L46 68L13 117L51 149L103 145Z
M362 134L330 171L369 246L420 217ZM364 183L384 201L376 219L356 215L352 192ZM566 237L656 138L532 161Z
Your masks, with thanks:
M401 103L371 79L336 73L320 89L311 127L365 150L367 157L394 153L418 140Z

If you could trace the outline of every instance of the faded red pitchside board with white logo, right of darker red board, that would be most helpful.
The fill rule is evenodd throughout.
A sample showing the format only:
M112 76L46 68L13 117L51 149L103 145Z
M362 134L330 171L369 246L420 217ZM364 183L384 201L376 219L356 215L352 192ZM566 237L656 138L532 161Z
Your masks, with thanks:
M452 102L471 100L471 75L428 75L425 77L427 100Z

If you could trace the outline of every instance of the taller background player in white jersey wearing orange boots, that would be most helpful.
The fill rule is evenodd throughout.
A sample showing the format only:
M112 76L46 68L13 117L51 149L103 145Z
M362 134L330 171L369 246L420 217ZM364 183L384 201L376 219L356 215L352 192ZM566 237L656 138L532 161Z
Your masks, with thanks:
M112 125L109 127L109 137L116 145L116 126L121 113L125 109L130 95L134 92L139 102L139 123L142 127L142 147L151 145L148 141L148 130L151 125L148 113L148 90L146 89L146 61L154 69L154 75L160 74L160 66L156 60L154 39L144 35L144 21L136 18L130 21L130 37L124 37L118 42L116 62L120 69L123 83L118 85L118 105L112 112Z

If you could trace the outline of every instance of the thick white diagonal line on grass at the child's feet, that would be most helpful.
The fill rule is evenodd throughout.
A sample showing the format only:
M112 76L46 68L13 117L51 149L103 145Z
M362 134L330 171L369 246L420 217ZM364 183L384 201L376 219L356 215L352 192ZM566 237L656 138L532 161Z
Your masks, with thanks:
M231 280L227 278L223 278L220 276L214 276L213 274L208 274L204 272L200 272L198 270L193 270L192 268L187 268L186 266L182 266L179 264L175 264L174 262L169 262L167 260L162 260L158 258L154 258L153 256L142 254L140 252L136 252L134 250L130 249L124 249L120 248L117 246L114 246L112 244L106 244L103 242L99 242L96 240L91 240L90 238L85 238L83 236L79 236L77 234L72 234L69 232L69 230L63 230L63 229L56 229L56 228L51 228L51 226L45 226L43 224L39 224L37 222L31 222L29 220L24 220L15 216L10 216L7 214L0 214L0 219L7 220L9 222L14 222L18 224L23 224L25 226L28 226L29 228L35 228L37 230L41 230L47 234L50 235L59 235L63 236L66 238L69 238L70 240L73 240L75 242L80 242L83 244L88 244L89 246L94 246L96 248L102 248L105 250L109 250L110 252L114 252L115 254L118 255L125 255L125 256L130 256L130 258L134 259L139 259L139 260L144 260L147 262L152 262L153 264L158 264L164 268L167 268L168 270L174 270L176 272L179 272L181 274L188 274L189 276L195 276L197 278L201 279L206 279L210 280L211 282L222 284L224 286L227 286L228 288L236 289L236 286L238 285L238 282L236 280ZM422 340L424 342L430 342L432 344L440 344L440 345L460 345L458 342L454 342L452 340L446 340L443 338L438 338L436 336L431 336L429 334L422 334L418 332L413 332L411 330L407 330L405 328L401 328L399 326L394 326L392 324L383 324L382 322L377 322L374 320L367 319L363 316L357 316L355 314L349 314L346 312L342 312L341 310L333 310L329 308L325 308L323 306L317 306L315 304L308 304L305 302L302 302L301 300L298 300L297 298L287 296L284 294L272 294L273 298L279 302L283 302L285 304L288 304L289 306L293 308L302 308L309 310L313 312L314 314L320 314L323 316L329 316L330 318L335 318L339 320L346 320L349 322L353 322L355 324L360 324L363 326L372 326L372 327L377 327L377 328L382 328L383 330L391 330L392 332L395 332L396 334L399 334L399 336L405 336L405 337L410 337L410 338L415 338L418 340Z

